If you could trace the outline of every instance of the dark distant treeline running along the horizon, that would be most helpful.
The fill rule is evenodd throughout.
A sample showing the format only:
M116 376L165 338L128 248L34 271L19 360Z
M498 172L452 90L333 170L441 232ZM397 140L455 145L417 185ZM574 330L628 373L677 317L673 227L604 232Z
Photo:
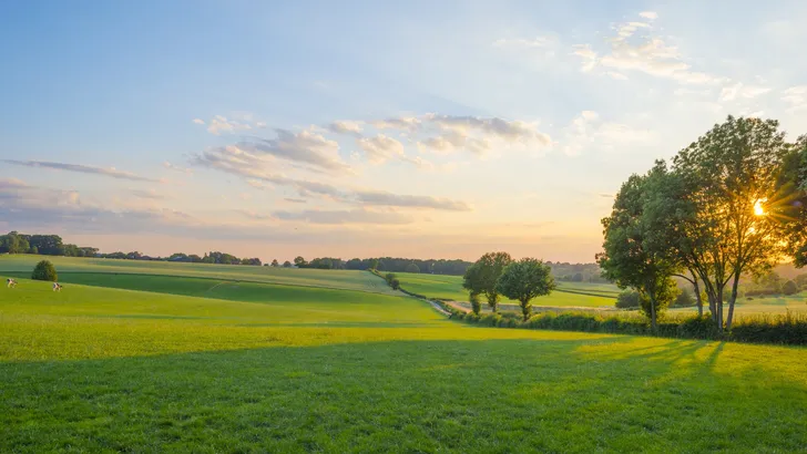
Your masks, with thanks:
M43 256L65 257L96 257L120 260L156 260L156 261L181 261L193 264L219 264L219 265L252 265L316 269L369 269L391 272L421 272L435 275L462 276L468 267L473 265L466 260L447 259L411 259L396 257L378 258L354 258L343 260L334 257L320 257L310 261L303 257L294 259L294 264L285 261L280 265L277 260L263 264L259 258L238 258L232 254L211 251L204 256L195 254L176 252L167 257L152 257L139 251L101 254L98 248L65 244L59 235L25 235L10 231L0 235L0 254L39 254ZM600 267L596 264L568 264L551 262L546 265L552 268L555 279L571 282L605 282L600 276Z

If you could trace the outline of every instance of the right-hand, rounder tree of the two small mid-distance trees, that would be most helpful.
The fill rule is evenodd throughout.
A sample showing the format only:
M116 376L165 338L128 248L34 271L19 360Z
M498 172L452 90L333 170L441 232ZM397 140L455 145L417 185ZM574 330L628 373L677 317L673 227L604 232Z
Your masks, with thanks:
M523 258L504 268L496 288L499 293L519 301L521 313L527 321L532 314L530 301L551 293L555 283L548 265L534 258Z

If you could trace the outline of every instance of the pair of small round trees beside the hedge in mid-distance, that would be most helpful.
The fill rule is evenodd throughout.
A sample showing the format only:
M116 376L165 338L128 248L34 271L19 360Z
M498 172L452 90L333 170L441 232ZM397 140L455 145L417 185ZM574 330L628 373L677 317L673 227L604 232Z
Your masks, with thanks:
M499 310L501 297L519 301L527 321L532 314L532 300L550 295L555 288L548 264L534 258L513 260L508 252L488 252L471 265L462 277L462 287L469 291L474 313L482 310L480 297L484 296L491 311Z

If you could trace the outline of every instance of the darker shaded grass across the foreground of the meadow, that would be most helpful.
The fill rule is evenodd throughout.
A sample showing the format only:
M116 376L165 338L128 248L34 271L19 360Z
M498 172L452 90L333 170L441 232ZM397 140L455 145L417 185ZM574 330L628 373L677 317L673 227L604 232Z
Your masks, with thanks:
M744 349L724 347L623 337L409 340L2 363L0 451L807 445L798 424L807 407L804 364L793 365L793 376L759 364L724 368L744 358ZM767 359L769 368L804 358L785 351Z

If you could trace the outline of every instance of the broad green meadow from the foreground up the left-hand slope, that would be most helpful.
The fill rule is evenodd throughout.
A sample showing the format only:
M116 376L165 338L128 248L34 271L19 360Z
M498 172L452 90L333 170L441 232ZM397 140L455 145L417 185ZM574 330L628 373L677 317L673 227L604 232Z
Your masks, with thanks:
M807 450L804 348L477 328L362 271L54 261L90 272L0 289L0 452Z

